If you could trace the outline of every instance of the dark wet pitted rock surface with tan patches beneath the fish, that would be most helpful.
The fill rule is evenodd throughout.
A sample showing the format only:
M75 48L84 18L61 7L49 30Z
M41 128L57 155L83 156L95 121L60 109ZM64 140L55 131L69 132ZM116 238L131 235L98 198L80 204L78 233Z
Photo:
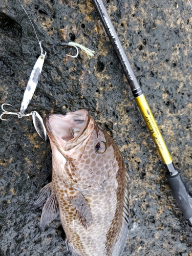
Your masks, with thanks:
M165 169L91 1L22 2L43 46L75 41L92 50L57 47L45 60L26 113L65 114L85 108L115 139L130 175L130 231L123 256L192 255L189 228ZM192 190L191 34L187 1L106 0L106 8L162 131L176 167ZM40 54L18 1L1 1L0 103L18 112ZM42 232L31 207L51 181L51 149L31 117L7 116L0 136L0 255L69 255L59 218Z

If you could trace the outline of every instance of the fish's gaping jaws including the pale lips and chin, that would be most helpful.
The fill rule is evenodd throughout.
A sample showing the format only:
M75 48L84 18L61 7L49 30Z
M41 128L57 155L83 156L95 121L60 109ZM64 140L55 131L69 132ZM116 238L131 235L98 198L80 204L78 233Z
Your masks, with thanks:
M87 110L69 112L66 116L49 114L44 118L44 125L50 141L63 157L74 154L94 129Z

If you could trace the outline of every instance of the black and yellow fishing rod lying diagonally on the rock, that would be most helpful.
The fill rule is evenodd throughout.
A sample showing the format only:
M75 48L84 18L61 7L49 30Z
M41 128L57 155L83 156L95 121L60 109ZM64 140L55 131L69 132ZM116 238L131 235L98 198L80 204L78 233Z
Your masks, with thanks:
M121 67L124 71L126 79L131 87L135 101L139 107L139 110L144 118L144 121L150 131L152 139L155 142L157 150L163 160L166 169L166 178L168 180L170 189L173 192L184 218L186 219L190 231L192 232L192 194L188 191L182 176L181 170L174 166L172 157L170 156L167 146L163 140L161 132L152 114L150 106L148 105L146 98L137 82L137 79L130 66L129 60L121 46L121 42L117 36L117 33L113 27L111 19L103 5L102 0L93 0L96 10L99 14L103 27L108 34L108 37L112 43L114 51L119 59Z

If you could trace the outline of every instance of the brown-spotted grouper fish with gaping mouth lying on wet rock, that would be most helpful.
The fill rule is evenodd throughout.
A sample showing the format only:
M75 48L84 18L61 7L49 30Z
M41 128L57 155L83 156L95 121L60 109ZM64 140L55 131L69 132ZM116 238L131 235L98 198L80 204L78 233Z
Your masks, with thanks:
M128 179L114 140L87 110L50 114L52 182L40 190L42 229L58 214L72 256L120 256L128 233Z

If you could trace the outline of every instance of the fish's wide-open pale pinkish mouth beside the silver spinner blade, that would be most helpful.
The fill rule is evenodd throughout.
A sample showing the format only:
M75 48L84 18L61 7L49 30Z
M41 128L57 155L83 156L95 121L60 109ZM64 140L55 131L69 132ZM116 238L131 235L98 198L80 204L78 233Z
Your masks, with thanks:
M87 110L69 112L65 116L49 114L44 118L49 138L55 145L76 142L86 131L90 122L90 114Z

